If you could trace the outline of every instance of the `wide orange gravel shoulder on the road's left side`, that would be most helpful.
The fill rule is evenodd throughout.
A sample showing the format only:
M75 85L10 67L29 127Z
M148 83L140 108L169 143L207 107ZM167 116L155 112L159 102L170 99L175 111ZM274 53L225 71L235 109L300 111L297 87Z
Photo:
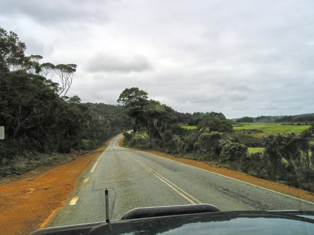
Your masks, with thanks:
M36 169L0 185L0 235L28 235L63 206L79 175L105 148L36 174ZM43 169L37 169L42 171Z

